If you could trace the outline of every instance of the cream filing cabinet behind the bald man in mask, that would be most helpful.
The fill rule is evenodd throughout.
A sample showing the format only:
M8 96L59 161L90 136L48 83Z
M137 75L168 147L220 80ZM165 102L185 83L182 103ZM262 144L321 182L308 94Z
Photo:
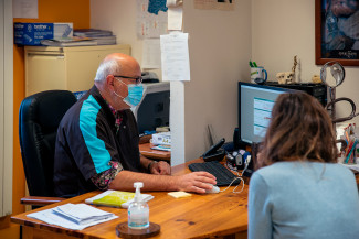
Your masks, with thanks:
M87 90L94 84L99 63L110 53L130 55L130 46L25 46L25 94L50 89Z

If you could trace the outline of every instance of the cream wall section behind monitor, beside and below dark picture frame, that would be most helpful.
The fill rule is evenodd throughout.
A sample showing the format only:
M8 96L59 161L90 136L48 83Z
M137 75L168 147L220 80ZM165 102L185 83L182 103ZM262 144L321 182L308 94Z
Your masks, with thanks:
M289 72L297 55L297 76L310 82L319 75L315 65L315 1L252 0L252 59L268 72L268 80L278 72ZM359 68L346 66L346 79L337 97L349 97L359 106ZM339 116L348 115L348 105L337 106ZM355 118L359 122L359 117Z

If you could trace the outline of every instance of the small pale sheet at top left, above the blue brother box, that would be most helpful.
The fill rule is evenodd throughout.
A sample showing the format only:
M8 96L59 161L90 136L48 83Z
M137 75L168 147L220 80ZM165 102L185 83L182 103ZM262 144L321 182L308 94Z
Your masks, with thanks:
M12 18L38 19L38 0L12 0Z

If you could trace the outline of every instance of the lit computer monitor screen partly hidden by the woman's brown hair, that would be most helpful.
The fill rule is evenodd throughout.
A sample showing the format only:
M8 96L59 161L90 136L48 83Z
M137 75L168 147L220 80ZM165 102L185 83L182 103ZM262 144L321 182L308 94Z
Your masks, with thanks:
M239 83L239 129L244 143L262 142L276 98L286 88Z

